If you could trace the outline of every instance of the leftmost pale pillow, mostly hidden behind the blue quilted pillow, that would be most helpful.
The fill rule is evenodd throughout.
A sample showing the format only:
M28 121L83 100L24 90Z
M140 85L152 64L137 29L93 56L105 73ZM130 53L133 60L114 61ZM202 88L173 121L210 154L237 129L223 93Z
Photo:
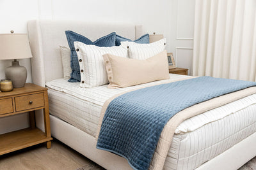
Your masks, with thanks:
M70 74L72 72L70 67L70 49L66 46L60 46L62 67L63 67L63 78L65 80L70 79Z

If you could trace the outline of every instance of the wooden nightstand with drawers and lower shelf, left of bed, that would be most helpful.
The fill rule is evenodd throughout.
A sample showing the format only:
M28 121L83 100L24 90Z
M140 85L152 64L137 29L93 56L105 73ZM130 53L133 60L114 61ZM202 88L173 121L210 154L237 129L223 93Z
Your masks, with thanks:
M35 110L44 110L45 133L36 128ZM39 143L51 148L51 127L48 94L45 87L26 83L25 87L12 92L0 93L0 117L29 112L30 127L0 135L0 155L20 150Z

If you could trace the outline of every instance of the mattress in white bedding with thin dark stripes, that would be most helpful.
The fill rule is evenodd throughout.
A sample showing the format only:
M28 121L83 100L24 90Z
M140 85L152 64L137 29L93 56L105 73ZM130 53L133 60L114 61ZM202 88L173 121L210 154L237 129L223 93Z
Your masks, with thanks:
M186 78L170 74L170 80ZM154 81L134 87L108 89L107 85L81 88L58 79L46 83L51 115L95 137L100 110L118 93L168 82ZM172 95L172 94L170 94ZM164 169L195 169L256 131L256 94L189 118L175 130Z

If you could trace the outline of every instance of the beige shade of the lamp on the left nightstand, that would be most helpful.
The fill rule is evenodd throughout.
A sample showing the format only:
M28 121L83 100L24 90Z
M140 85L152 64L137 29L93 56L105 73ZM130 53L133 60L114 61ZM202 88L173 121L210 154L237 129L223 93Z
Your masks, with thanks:
M27 34L0 34L0 60L31 57Z

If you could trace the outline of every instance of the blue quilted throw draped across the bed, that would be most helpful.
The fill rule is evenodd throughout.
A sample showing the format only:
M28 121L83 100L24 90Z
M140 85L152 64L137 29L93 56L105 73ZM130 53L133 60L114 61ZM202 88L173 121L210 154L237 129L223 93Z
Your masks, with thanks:
M164 125L179 111L256 82L192 78L127 92L109 103L97 148L128 160L133 169L148 169Z

